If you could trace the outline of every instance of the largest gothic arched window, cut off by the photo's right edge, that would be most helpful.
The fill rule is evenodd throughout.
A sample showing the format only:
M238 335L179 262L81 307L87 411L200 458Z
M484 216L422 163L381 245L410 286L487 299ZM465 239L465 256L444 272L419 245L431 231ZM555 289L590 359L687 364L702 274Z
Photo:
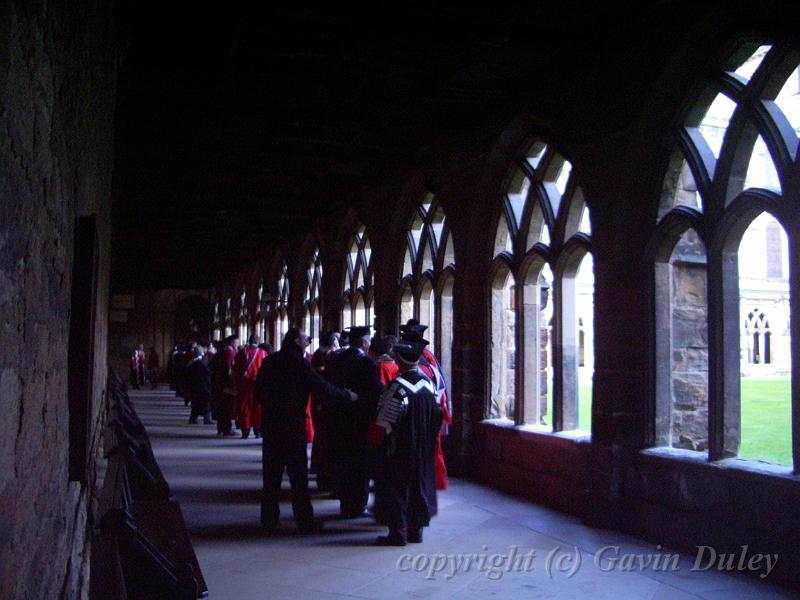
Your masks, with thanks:
M796 50L740 45L701 82L675 131L651 244L656 445L708 451L712 460L792 463L791 404L798 399L789 400L788 349L797 324L784 256L798 242L787 224L800 218ZM746 308L764 303L790 323L780 340L772 330L767 336L763 313ZM780 365L776 342L787 348ZM785 393L770 404L776 428L765 434L746 415L760 402L751 365L766 366L767 353L772 373L784 376L785 384L773 383ZM762 435L781 449L748 449L758 444L747 440Z

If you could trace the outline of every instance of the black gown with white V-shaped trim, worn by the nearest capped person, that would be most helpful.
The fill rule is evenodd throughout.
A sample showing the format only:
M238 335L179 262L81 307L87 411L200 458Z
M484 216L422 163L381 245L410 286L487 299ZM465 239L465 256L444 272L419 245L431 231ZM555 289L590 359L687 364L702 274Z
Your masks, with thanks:
M444 414L419 371L398 375L389 389L401 408L383 446L376 518L392 529L418 529L437 511L436 437Z

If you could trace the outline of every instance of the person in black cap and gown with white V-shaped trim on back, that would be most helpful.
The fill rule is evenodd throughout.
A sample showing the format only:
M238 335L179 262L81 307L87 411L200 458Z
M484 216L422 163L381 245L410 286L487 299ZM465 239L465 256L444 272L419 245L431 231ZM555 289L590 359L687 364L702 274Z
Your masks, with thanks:
M399 372L380 399L375 424L383 428L383 460L376 481L375 513L389 535L378 544L422 541L436 515L436 439L443 412L433 383L418 369L426 340L394 347Z

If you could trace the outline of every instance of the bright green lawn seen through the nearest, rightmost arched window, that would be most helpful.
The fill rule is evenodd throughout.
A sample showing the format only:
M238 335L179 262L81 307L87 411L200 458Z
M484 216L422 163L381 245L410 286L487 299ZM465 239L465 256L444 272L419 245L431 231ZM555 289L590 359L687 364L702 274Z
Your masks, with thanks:
M742 379L742 445L739 456L792 464L790 379Z

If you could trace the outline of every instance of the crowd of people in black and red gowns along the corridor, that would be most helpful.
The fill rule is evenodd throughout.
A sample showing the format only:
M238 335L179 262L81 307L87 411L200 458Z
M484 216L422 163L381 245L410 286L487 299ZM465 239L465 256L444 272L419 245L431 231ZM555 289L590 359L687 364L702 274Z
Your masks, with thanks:
M250 336L209 346L176 348L176 387L191 404L190 423L216 422L222 436L262 437L261 524L278 526L284 471L292 488L297 528L321 529L308 488L308 444L317 487L338 498L343 519L361 517L374 482L376 520L388 527L383 545L421 542L436 514L437 489L447 487L441 447L450 423L446 383L411 320L399 338L371 335L370 327L311 338L291 328L272 352ZM446 430L446 429L445 429Z

